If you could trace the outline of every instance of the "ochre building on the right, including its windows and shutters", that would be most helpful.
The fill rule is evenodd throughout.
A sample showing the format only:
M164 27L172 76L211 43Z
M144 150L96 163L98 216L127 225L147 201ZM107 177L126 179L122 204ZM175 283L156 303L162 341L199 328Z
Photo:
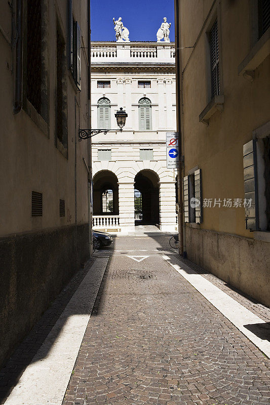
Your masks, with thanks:
M269 13L264 0L175 1L183 251L266 305Z

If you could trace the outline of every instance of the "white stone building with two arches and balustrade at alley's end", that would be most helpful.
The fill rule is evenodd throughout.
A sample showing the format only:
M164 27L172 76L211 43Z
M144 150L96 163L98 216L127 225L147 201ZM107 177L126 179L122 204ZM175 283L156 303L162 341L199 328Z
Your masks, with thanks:
M128 233L139 224L175 231L177 171L167 169L166 132L176 130L174 43L92 42L93 226Z

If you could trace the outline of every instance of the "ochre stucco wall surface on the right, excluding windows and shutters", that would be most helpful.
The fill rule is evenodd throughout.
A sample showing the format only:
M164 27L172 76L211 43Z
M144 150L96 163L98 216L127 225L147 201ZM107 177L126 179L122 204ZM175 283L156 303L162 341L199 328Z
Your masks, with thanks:
M244 207L222 205L228 198L243 201L243 145L253 139L254 130L269 125L270 45L268 42L253 68L253 80L244 77L239 66L256 45L251 22L257 3L179 0L178 4L178 36L183 48L176 71L181 79L181 93L177 94L181 122L177 126L182 131L182 175L200 168L203 198L222 201L220 208L213 203L211 208L203 208L201 224L184 224L184 251L207 271L269 305L269 232L246 230ZM199 115L211 101L208 32L216 19L224 104L206 125ZM190 46L193 48L186 48Z

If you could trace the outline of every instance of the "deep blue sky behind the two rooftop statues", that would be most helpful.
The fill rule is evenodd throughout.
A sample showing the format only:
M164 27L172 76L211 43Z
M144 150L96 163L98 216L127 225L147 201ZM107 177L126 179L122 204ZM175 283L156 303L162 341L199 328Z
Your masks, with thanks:
M112 18L129 29L130 41L157 41L157 31L167 17L174 41L174 0L91 0L91 40L115 41Z

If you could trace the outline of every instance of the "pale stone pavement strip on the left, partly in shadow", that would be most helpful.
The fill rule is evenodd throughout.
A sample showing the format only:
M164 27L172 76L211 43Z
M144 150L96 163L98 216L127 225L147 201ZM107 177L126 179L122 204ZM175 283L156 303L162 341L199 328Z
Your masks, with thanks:
M108 258L97 258L5 405L61 405Z

